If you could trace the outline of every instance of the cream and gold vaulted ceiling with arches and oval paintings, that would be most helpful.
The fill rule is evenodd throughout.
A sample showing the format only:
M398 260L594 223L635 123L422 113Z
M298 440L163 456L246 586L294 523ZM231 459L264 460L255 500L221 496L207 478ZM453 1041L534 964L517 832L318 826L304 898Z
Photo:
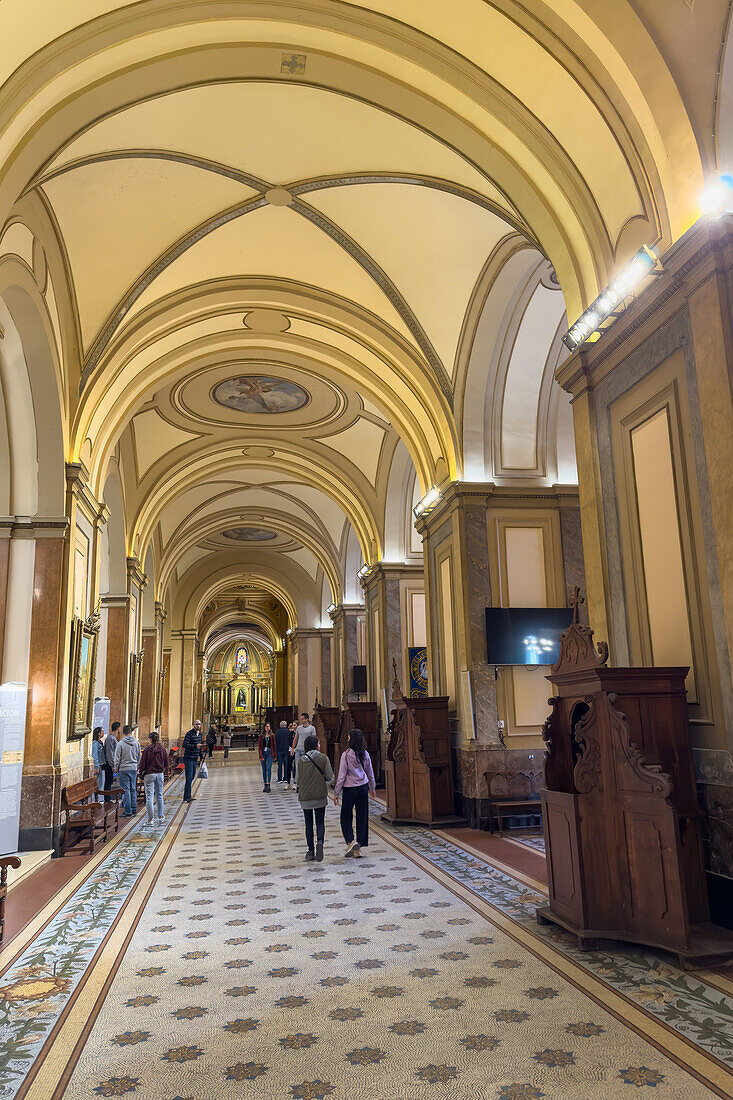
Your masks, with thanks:
M242 586L319 625L431 485L572 480L566 310L712 147L652 3L45 8L0 6L0 294L178 625Z

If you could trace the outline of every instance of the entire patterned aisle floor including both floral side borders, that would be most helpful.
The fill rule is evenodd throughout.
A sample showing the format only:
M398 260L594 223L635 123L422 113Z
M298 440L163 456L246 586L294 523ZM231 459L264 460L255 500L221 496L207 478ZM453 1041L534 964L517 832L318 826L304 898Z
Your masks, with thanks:
M581 956L534 922L540 882L378 803L361 861L329 807L306 865L258 768L187 810L176 783L167 826L135 821L0 955L3 1100L731 1094L723 974Z

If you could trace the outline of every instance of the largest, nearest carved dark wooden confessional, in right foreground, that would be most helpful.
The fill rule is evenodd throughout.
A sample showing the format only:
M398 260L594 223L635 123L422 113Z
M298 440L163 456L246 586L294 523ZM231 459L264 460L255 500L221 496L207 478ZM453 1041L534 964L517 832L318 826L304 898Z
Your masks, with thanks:
M686 668L609 668L605 642L578 617L548 680L557 695L543 737L549 905L540 923L582 948L625 939L682 966L733 957L709 924L692 768Z

